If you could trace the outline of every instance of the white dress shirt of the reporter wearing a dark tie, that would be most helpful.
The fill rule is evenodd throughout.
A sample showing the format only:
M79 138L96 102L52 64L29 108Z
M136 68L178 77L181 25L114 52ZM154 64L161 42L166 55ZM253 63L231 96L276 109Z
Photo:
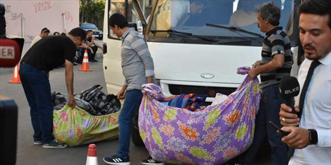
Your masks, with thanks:
M303 87L312 60L305 59L299 69L298 81ZM304 100L300 127L316 129L318 143L302 149L295 149L288 164L290 165L330 165L331 164L331 52L313 72ZM301 91L300 91L301 94ZM299 96L300 96L299 94ZM298 105L299 96L295 98Z

